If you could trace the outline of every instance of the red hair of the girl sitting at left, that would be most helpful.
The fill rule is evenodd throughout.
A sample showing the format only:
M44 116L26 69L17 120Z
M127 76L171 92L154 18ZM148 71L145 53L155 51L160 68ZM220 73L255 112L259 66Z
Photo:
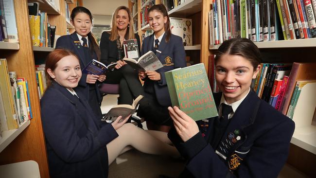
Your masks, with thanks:
M57 67L57 62L60 61L60 59L62 59L63 57L66 57L69 55L75 56L79 61L79 58L76 54L74 54L70 50L66 50L66 49L56 49L47 55L46 62L45 62L45 74L46 74L47 86L50 86L52 81L54 80L48 74L47 70L51 69L52 71L54 71Z

